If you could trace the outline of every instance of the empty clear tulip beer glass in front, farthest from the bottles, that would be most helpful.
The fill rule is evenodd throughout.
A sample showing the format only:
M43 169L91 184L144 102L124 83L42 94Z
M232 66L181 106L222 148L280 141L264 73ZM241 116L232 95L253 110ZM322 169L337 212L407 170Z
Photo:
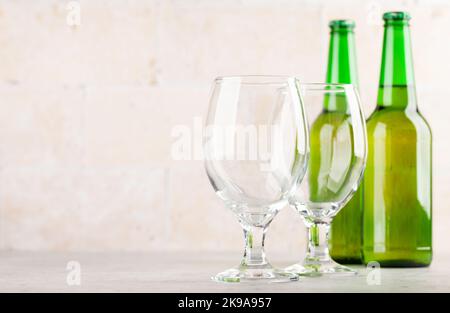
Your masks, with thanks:
M264 237L305 174L307 127L294 77L235 76L214 81L203 142L206 172L245 235L240 265L214 280L297 280L296 274L270 265Z

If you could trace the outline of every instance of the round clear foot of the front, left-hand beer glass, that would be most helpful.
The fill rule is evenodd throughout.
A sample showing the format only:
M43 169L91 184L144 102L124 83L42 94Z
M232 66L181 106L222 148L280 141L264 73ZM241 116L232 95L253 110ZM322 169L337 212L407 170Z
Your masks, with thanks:
M275 268L231 268L211 277L212 280L222 283L287 283L298 280L298 275Z

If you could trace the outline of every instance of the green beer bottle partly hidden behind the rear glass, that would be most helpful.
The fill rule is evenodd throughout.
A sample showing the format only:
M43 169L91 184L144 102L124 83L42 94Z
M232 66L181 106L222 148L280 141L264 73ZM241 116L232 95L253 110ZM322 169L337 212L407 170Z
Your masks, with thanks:
M329 26L330 46L326 82L358 86L354 35L355 23L351 20L333 20ZM346 101L341 105L330 105L334 101L329 101L331 99L327 100L323 114L333 115L347 111ZM339 99L336 100L336 103L338 103ZM361 200L362 192L361 188L359 188L350 202L336 215L331 224L329 233L330 254L339 263L361 263Z

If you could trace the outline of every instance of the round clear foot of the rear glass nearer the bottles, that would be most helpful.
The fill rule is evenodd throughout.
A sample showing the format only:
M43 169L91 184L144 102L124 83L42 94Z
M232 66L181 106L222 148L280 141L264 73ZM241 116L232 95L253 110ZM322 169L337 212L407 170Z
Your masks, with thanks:
M322 275L339 275L353 276L358 274L357 271L336 263L333 260L317 261L306 259L303 263L291 265L285 269L287 272L295 273L299 276L322 276Z

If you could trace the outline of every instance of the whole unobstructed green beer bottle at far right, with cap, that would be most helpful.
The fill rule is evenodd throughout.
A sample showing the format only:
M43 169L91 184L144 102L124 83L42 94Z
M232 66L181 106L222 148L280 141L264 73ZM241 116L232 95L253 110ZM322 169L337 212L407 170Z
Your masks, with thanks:
M383 15L377 108L367 121L363 259L381 266L431 262L431 130L414 86L410 16Z

